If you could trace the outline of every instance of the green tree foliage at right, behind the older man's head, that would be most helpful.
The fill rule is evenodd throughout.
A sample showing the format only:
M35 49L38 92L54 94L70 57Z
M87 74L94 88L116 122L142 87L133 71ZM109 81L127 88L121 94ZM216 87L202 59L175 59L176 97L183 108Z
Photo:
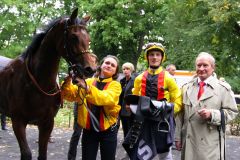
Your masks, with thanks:
M169 61L178 69L193 70L196 55L210 52L216 58L217 75L226 77L239 93L239 2L185 0L173 3L171 8L164 29L165 40L171 46Z

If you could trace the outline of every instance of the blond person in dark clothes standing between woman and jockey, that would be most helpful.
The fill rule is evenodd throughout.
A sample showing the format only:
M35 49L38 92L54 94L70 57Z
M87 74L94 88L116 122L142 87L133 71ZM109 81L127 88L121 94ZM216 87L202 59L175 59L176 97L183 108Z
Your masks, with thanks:
M120 80L122 93L119 98L119 103L121 105L120 119L122 122L123 136L125 138L131 127L132 119L131 112L126 109L124 97L132 94L132 88L135 79L135 75L132 74L134 72L134 65L130 62L124 63L122 65L122 72L124 74L124 77ZM126 155L124 158L128 158L128 156Z

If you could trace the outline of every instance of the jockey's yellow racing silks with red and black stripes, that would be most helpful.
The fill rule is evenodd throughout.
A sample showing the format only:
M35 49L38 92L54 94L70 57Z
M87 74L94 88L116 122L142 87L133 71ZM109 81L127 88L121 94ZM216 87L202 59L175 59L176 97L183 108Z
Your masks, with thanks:
M166 98L168 102L174 103L174 114L182 109L181 90L174 78L162 67L159 67L154 73L151 69L147 69L136 77L133 94L148 96L154 100Z

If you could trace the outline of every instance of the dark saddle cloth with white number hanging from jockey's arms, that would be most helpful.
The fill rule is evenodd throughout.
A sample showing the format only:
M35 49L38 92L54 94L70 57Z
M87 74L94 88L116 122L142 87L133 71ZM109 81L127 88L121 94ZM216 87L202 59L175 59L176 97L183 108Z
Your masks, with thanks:
M147 99L145 99L145 102ZM141 104L138 104L140 106ZM131 127L123 142L123 147L128 153L131 160L151 160L158 153L168 152L174 141L175 123L173 117L173 110L167 116L167 121L170 126L169 132L161 132L159 128L159 121L149 119L138 114L141 112L141 107L137 108L135 120L142 123L139 127L140 134L137 135L136 142L132 145L132 134L136 127ZM134 125L134 124L133 124ZM136 131L138 132L138 131Z

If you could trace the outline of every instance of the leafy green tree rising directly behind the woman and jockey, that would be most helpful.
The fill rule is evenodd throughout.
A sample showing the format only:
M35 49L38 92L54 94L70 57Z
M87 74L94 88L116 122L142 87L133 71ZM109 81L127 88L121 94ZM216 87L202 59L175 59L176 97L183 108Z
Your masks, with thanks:
M146 40L156 40L154 30L162 26L166 7L156 0L97 0L84 1L86 11L93 17L91 47L102 58L113 54L120 61L137 64Z

